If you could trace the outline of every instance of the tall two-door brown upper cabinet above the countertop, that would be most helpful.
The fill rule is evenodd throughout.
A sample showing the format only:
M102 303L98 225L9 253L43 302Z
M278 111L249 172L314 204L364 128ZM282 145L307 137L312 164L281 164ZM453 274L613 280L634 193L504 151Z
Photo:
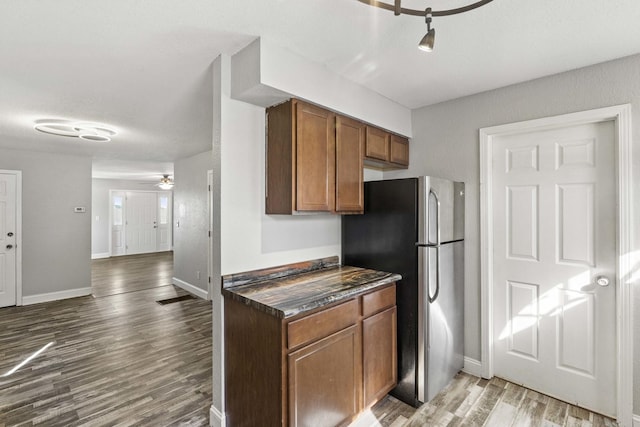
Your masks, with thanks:
M363 211L364 124L292 99L267 109L267 214Z

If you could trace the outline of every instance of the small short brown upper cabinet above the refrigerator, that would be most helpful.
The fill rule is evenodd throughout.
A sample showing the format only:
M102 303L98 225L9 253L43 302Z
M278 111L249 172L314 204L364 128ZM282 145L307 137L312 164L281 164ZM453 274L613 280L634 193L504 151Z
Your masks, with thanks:
M365 164L381 169L406 169L409 166L409 140L367 126Z

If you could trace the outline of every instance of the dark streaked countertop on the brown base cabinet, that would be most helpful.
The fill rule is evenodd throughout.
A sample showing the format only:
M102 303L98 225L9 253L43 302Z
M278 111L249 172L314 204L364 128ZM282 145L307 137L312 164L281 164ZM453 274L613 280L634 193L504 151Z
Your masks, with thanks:
M342 266L331 257L224 276L223 295L289 318L400 279L399 274Z

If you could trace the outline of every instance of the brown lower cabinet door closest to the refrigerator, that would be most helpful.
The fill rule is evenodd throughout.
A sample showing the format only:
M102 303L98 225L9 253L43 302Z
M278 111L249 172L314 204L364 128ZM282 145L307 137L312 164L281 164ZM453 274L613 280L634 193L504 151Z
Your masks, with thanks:
M373 405L395 387L396 307L362 321L364 406Z

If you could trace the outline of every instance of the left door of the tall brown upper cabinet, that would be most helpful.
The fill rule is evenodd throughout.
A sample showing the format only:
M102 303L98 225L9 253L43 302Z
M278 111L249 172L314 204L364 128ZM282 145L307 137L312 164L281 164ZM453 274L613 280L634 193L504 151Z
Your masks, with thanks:
M296 102L296 210L335 209L335 115Z

